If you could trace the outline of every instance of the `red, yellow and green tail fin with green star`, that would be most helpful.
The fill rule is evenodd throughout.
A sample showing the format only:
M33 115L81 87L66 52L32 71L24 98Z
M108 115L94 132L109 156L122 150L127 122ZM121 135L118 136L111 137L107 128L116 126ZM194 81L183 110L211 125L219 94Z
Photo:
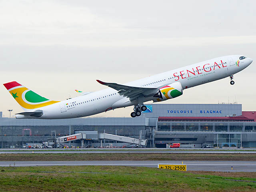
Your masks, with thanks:
M18 102L18 104L24 109L24 111L59 102L44 98L16 81L5 83L4 86L10 92L16 102Z

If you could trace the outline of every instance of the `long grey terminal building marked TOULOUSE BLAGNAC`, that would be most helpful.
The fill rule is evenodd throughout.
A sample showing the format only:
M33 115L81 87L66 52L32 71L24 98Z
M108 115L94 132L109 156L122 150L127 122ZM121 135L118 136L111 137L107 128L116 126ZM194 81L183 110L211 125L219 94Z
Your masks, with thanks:
M151 148L166 148L171 143L192 148L206 144L220 148L256 147L256 112L242 111L242 104L146 106L148 109L136 118L16 119L2 118L0 112L0 148L22 148L26 143L43 143L79 132L87 133L87 146L93 147L128 146L121 141L102 141L100 133L147 139L147 147Z

